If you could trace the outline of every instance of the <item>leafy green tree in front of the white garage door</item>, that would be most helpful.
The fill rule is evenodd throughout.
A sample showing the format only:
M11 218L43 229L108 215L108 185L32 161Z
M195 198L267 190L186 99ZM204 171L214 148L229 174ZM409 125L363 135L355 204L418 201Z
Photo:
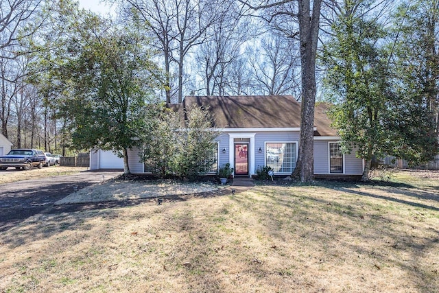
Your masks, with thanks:
M160 79L144 27L117 25L67 4L60 15L62 45L51 47L51 62L45 64L51 89L61 84L63 91L51 102L67 120L73 147L121 152L129 173L128 149L141 143L137 134L146 131L147 104Z

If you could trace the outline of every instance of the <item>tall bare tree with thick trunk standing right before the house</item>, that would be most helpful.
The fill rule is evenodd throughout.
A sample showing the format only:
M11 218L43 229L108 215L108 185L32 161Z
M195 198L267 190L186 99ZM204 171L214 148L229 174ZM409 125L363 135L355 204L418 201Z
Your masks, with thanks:
M289 38L299 37L302 85L302 113L297 167L292 176L302 182L313 180L313 126L316 102L316 55L322 0L238 0L254 10L262 11L268 23ZM279 21L280 20L280 21ZM298 23L298 32L294 32Z

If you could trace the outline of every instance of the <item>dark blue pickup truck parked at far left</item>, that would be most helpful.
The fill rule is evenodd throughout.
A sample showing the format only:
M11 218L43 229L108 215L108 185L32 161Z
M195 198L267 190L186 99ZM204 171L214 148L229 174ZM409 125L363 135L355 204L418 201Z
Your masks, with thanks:
M15 169L29 170L32 167L41 169L46 162L46 156L42 150L15 149L10 150L7 155L0 156L0 170L15 167Z

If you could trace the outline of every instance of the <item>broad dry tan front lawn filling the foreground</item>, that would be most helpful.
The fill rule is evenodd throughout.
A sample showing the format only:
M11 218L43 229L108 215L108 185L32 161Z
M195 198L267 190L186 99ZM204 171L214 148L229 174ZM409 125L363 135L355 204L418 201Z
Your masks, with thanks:
M439 292L439 173L29 218L0 292Z

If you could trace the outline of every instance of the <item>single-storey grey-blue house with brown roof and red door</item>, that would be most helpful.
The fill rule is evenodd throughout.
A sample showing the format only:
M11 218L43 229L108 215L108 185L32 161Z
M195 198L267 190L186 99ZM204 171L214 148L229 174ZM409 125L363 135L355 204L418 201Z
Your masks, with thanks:
M291 174L296 167L300 139L300 103L289 95L270 96L188 96L169 108L184 115L184 109L198 105L209 109L215 128L222 131L217 139L218 165L230 163L235 176L252 176L268 165L274 175ZM316 177L361 176L363 160L355 153L342 154L337 130L331 128L327 104L316 104L314 118L314 174ZM132 173L143 173L139 150L130 150ZM123 168L108 152L91 153L91 169ZM118 159L118 158L117 158ZM116 163L120 165L115 165Z

